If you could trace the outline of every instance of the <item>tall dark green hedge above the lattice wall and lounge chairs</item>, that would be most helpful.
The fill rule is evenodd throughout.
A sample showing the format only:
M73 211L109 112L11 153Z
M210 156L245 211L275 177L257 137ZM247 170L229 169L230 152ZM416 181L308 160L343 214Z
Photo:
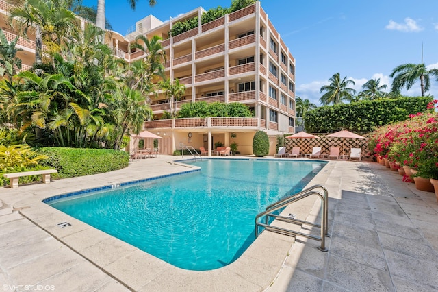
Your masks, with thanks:
M430 101L433 97L401 97L322 106L305 113L305 129L310 133L331 133L343 129L371 132L375 127L404 121L409 114L426 112Z

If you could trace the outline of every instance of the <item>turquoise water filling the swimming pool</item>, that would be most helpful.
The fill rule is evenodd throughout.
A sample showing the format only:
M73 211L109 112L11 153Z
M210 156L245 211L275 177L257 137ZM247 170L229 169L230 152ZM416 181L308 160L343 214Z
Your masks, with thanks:
M48 204L172 265L204 271L236 260L255 239L255 215L300 191L326 164L254 159L184 162L201 171L73 194Z

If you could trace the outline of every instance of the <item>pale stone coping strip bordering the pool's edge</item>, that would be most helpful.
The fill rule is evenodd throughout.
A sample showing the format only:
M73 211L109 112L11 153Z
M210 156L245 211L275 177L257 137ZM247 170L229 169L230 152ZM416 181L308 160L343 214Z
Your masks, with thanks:
M172 156L170 156L171 161L181 163L181 161L176 161L178 159L171 158ZM266 159L272 160L272 158ZM166 164L167 160L169 158L153 160L153 162ZM274 158L274 160L278 159ZM335 162L329 161L322 171L309 182L308 186L324 184L328 176L327 173L333 169L333 163ZM196 169L196 167L192 168ZM181 172L187 172L187 165L183 166L173 163L168 164L166 175L175 175ZM122 184L128 178L126 175L118 177L119 173L120 171L115 171L107 173L106 176L111 178L114 184ZM147 180L154 176L144 178L144 175L146 173L143 171L143 173L137 173L133 177L143 176L139 179ZM15 202L14 208L19 210L21 215L27 217L27 219L64 243L64 245L70 247L71 250L77 252L77 254L86 258L131 290L150 291L153 289L173 291L184 287L184 289L196 291L221 291L227 290L227 287L233 287L233 289L242 291L261 291L269 287L276 278L294 243L294 238L292 237L272 232L263 232L242 256L230 265L211 271L189 271L159 260L146 252L142 252L137 247L133 247L92 226L88 226L88 224L74 219L42 202L42 199L48 196L62 195L71 188L73 188L72 192L81 191L78 188L81 188L83 184L92 184L95 188L103 187L102 183L99 182L99 176L102 177L102 175L90 175L80 179L58 180L47 186L21 186L21 190L24 188L31 189L32 191L29 193L32 196L24 195L23 198L17 198L18 201ZM63 182L66 184L65 186L61 186ZM70 182L73 182L73 184L75 182L80 183L73 186ZM19 189L17 188L17 190ZM11 194L18 193L14 189L8 189L8 191L11 191ZM302 200L298 210L294 208L297 218L305 220L311 213L312 208L315 208L316 201L315 197ZM285 212L288 212L288 210L286 209ZM66 228L60 228L58 226L60 223L70 225L67 225ZM297 226L296 230L298 231L299 229Z

